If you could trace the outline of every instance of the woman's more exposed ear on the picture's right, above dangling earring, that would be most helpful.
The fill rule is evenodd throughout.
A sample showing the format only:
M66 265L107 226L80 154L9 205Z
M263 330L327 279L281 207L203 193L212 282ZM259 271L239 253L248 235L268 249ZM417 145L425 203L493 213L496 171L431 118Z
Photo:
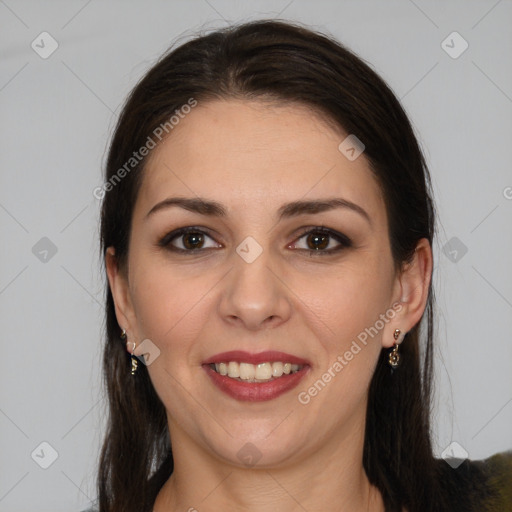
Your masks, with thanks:
M413 259L407 263L396 278L394 297L398 304L393 309L397 312L395 317L386 325L382 337L384 347L392 347L395 339L395 329L401 333L397 343L403 341L404 336L421 320L427 305L428 290L432 279L432 248L426 238L422 238L416 245Z

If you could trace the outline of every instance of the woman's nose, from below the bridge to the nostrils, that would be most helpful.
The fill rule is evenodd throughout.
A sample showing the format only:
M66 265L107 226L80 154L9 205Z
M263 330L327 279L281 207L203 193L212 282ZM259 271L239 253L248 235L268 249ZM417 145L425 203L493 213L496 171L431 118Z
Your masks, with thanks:
M288 320L291 292L271 259L268 249L251 262L234 252L233 268L223 280L219 304L219 312L226 322L258 331Z

